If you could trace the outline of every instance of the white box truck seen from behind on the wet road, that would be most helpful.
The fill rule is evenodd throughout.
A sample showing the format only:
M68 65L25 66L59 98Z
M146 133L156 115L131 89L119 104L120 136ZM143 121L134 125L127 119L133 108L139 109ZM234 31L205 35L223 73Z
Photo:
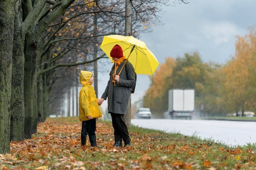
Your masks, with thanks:
M194 89L171 89L169 90L168 113L171 119L192 119L195 105Z

